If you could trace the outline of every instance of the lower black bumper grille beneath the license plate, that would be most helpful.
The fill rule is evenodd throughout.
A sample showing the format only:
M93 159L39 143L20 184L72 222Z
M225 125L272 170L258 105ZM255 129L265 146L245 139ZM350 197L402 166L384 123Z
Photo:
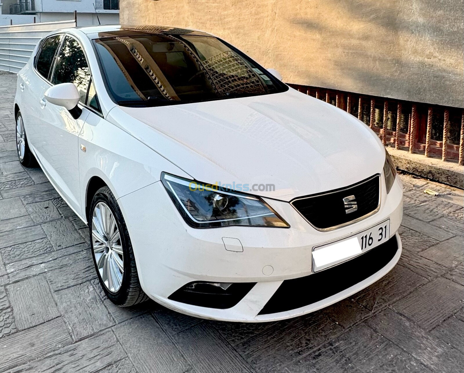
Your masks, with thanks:
M306 277L285 280L259 315L290 311L340 293L381 270L397 251L398 241L393 236L386 243L335 267Z

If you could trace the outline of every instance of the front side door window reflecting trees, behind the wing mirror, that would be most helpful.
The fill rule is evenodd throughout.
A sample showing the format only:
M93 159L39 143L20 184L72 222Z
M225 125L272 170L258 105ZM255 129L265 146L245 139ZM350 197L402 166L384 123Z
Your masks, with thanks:
M84 51L76 39L66 36L58 54L57 64L52 77L53 84L74 83L85 102L89 87L90 69Z

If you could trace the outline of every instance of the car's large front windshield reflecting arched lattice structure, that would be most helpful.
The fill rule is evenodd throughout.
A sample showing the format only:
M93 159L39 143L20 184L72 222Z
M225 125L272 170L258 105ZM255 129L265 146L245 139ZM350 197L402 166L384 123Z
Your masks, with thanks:
M132 35L94 40L108 90L123 106L162 106L283 92L288 87L220 39Z

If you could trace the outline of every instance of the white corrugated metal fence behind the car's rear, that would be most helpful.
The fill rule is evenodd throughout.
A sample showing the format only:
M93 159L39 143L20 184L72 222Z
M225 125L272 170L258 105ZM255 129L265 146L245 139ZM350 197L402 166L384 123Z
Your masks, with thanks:
M76 21L74 19L0 26L0 70L18 72L31 57L37 43L47 33L75 26Z

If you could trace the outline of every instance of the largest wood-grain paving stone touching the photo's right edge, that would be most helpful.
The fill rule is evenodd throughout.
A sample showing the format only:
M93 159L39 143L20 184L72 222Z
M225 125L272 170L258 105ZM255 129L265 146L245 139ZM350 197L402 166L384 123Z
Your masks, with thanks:
M437 278L394 303L392 309L431 330L462 308L463 301L464 286Z

